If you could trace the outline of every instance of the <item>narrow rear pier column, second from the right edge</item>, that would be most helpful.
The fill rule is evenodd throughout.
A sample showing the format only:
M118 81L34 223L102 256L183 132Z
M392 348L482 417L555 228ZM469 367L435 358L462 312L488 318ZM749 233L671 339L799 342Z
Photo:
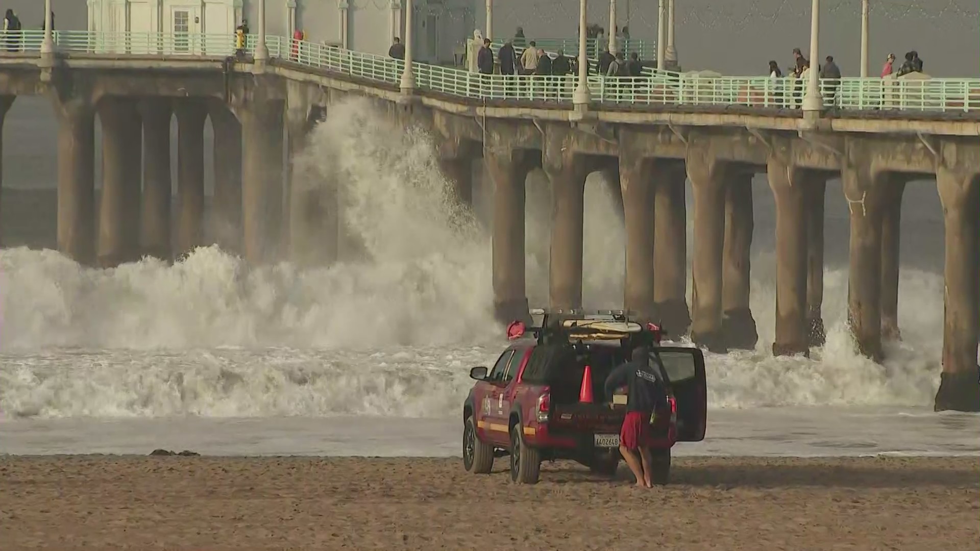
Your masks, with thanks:
M890 175L882 189L881 211L881 338L899 340L899 245L905 175Z

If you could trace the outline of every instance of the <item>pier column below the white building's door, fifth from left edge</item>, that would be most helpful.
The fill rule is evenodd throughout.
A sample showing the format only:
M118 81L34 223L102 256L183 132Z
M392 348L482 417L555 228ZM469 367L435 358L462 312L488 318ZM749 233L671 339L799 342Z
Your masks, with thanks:
M177 100L177 255L204 244L204 123L207 106Z

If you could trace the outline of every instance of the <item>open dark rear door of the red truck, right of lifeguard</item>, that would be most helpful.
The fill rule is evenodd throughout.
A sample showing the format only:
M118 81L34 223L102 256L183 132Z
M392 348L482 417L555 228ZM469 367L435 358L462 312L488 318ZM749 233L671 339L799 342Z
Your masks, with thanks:
M705 355L698 348L663 346L651 352L660 356L670 393L677 402L677 441L705 439L708 422L708 383Z

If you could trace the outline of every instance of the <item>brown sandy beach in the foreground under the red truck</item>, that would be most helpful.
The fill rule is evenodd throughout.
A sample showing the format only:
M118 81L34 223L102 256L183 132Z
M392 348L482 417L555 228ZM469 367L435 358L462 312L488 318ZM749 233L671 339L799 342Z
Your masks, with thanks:
M569 463L0 457L5 551L975 549L977 458L680 458L666 487Z

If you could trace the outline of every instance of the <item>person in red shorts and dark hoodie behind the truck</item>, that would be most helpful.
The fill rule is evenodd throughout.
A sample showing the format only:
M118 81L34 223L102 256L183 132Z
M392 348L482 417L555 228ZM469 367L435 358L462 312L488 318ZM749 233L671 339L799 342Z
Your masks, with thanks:
M660 379L650 369L650 350L638 346L630 357L632 360L614 369L606 378L606 395L612 395L623 385L628 388L626 419L619 430L619 452L636 476L636 485L652 488L650 419L664 391Z

